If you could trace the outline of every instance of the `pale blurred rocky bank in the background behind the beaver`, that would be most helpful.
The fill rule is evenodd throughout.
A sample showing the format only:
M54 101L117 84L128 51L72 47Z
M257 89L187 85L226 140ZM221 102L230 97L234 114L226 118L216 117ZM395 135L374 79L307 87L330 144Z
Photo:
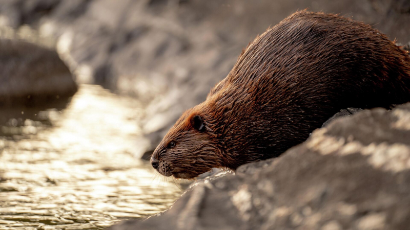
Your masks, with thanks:
M29 24L58 39L77 82L147 103L141 156L226 77L242 48L296 10L340 13L410 40L402 0L6 0L0 25ZM3 21L3 24L1 23Z

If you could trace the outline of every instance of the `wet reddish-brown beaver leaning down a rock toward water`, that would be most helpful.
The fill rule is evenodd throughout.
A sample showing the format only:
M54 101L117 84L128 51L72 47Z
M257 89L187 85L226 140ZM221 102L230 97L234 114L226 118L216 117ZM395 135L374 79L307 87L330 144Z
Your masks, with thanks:
M162 175L194 178L279 156L347 107L410 101L410 57L386 35L335 14L299 11L242 50L206 101L155 149Z

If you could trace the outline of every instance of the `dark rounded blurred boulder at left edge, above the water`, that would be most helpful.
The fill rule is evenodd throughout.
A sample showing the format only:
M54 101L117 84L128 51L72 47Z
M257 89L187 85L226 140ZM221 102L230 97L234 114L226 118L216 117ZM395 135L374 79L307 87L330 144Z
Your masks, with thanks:
M55 51L21 40L0 39L0 76L1 106L47 103L77 90Z

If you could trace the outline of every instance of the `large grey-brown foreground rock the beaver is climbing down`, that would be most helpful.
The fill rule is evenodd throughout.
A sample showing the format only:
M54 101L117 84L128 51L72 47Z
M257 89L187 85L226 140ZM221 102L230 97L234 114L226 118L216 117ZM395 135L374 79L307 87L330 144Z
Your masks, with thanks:
M171 209L110 229L406 229L410 103L363 110L280 157L198 182Z

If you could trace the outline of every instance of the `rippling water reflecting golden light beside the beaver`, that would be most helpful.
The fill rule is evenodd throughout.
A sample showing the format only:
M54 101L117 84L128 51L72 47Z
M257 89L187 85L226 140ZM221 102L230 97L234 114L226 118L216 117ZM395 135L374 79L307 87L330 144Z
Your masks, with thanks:
M0 229L101 229L163 211L181 194L133 156L143 113L135 99L80 85L65 109L6 112Z

